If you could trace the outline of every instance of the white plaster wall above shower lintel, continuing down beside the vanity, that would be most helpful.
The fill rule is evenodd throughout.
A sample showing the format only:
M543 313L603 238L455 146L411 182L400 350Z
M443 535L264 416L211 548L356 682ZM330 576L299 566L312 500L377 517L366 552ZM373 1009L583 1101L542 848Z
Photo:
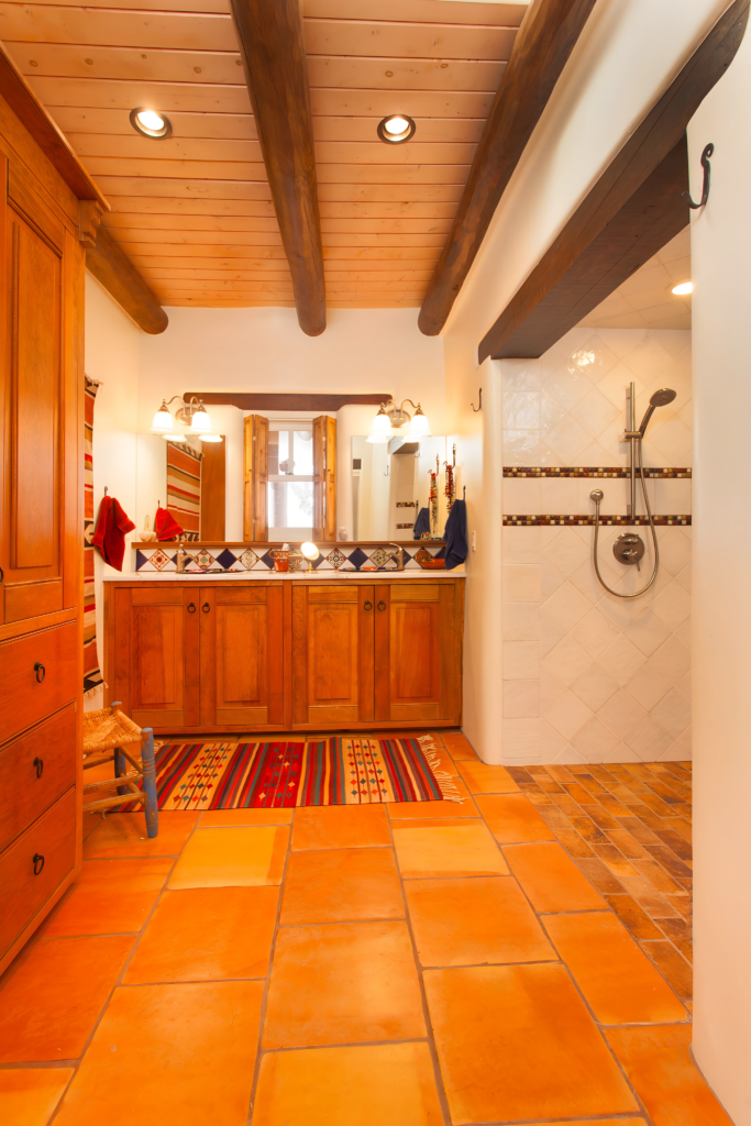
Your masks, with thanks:
M484 409L486 403L488 378L485 370L477 369L480 340L726 7L726 0L656 5L654 0L598 0L594 6L444 331L446 404L452 429L463 436L458 461L465 480L473 472L465 466L481 465L491 456L483 434L484 441L498 441L500 447L500 434L495 437L490 421L479 422L480 415L473 415L470 406L472 401L477 405L481 385ZM494 543L494 530L488 537L484 529L494 529L501 510L500 474L483 483L481 494L482 506L472 516L479 545L488 538ZM467 499L474 500L470 489ZM476 600L488 608L467 626L467 661L485 651L485 634L502 634L500 534L498 539L494 556L484 560L482 568L480 558L467 566L467 606ZM486 730L483 707L481 694L474 694L465 680L464 730L470 739L473 732L480 740L475 745L482 758L499 761L500 717L494 735L479 734Z

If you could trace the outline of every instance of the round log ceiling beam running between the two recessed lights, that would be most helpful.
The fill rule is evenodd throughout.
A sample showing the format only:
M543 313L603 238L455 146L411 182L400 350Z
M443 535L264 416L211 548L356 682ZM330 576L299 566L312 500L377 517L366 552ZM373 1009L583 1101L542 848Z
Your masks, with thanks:
M231 0L303 332L325 329L313 122L299 0Z

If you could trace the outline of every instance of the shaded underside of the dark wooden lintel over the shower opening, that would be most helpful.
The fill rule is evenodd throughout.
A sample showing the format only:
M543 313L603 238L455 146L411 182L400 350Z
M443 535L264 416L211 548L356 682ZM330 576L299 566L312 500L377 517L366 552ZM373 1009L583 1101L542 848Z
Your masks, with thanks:
M609 297L689 222L686 136L658 164L500 349L504 359L542 356ZM501 358L501 356L497 358Z

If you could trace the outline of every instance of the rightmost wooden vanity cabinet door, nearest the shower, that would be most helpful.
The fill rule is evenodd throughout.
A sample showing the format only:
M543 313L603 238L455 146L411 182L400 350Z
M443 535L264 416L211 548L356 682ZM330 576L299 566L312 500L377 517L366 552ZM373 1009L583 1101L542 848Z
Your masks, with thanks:
M400 581L375 599L376 720L458 722L456 586Z

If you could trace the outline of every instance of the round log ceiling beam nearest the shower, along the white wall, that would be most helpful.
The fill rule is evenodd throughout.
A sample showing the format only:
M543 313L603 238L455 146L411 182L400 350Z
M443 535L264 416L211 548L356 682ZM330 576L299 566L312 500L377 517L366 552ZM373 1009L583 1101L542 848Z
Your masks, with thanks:
M442 329L501 196L573 50L594 0L533 0L485 122L456 217L418 318Z

